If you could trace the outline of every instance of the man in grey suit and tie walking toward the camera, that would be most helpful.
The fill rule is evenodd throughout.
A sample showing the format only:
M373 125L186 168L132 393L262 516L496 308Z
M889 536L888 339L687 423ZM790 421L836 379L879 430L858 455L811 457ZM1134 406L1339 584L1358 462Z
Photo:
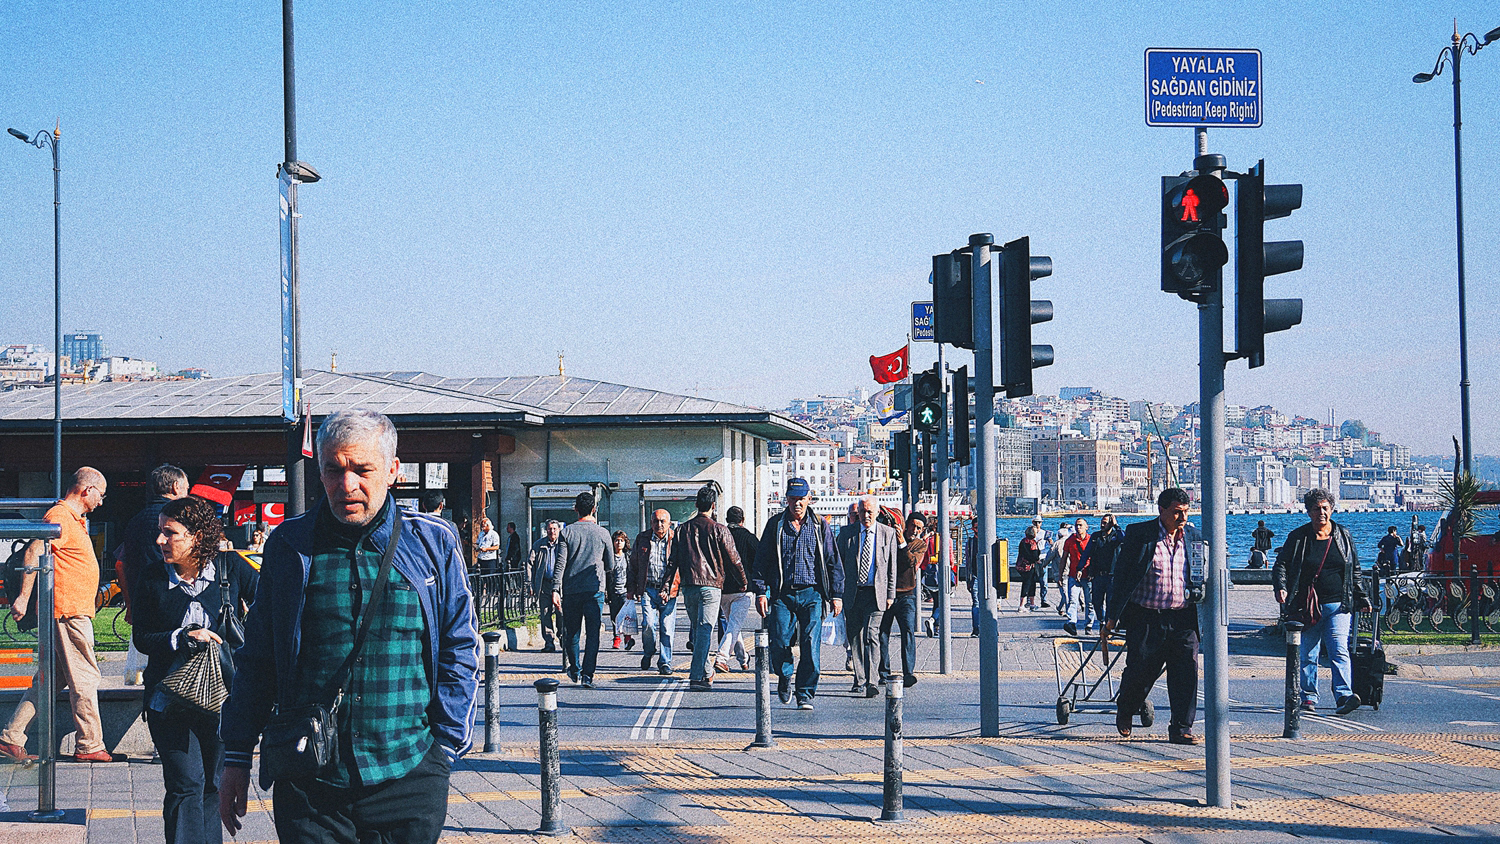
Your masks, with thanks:
M854 652L852 694L874 697L876 672L880 664L880 621L896 601L896 552L902 537L894 528L880 525L874 496L860 499L858 522L838 529L834 546L844 565L844 616L849 648Z

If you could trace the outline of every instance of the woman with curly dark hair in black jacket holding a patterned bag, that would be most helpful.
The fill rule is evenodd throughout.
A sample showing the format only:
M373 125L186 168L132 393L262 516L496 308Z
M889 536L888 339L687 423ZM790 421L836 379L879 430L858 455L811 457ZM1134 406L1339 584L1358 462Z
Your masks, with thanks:
M142 576L134 601L135 648L146 654L146 726L162 760L166 844L219 844L219 717L172 705L158 688L194 652L224 643L222 585L236 616L255 598L258 574L237 553L220 553L218 508L195 496L170 501L158 520L166 568Z

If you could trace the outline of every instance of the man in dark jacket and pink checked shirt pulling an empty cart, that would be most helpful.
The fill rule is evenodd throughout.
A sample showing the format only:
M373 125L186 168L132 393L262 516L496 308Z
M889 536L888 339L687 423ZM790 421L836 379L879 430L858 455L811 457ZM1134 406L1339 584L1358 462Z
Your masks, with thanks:
M1131 733L1131 718L1146 705L1146 694L1167 672L1172 744L1197 744L1192 723L1198 712L1198 607L1200 585L1192 583L1190 559L1202 541L1188 523L1188 493L1167 489L1156 496L1158 517L1125 528L1114 579L1106 604L1100 639L1125 625L1125 672L1116 696L1114 727Z

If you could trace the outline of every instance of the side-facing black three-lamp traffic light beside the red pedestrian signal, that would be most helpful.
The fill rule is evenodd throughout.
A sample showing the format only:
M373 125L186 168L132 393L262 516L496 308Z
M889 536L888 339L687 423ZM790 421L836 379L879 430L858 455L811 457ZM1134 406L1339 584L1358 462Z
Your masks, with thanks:
M1251 369L1266 363L1266 334L1302 322L1300 298L1266 298L1266 276L1302 268L1302 241L1266 243L1266 220L1300 207L1300 184L1266 184L1264 159L1234 190L1234 349Z

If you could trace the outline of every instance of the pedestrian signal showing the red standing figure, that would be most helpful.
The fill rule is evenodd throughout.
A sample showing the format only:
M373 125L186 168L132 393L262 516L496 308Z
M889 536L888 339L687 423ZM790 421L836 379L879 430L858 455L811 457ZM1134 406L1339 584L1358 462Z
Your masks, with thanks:
M1204 172L1161 177L1161 289L1197 301L1228 264L1220 213L1228 205L1224 180Z

